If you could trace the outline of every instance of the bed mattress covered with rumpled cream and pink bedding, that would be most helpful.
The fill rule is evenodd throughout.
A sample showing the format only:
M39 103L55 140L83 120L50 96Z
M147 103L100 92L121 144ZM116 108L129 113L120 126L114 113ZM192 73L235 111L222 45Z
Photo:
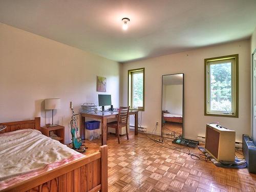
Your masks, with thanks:
M0 190L82 157L37 130L0 134Z

